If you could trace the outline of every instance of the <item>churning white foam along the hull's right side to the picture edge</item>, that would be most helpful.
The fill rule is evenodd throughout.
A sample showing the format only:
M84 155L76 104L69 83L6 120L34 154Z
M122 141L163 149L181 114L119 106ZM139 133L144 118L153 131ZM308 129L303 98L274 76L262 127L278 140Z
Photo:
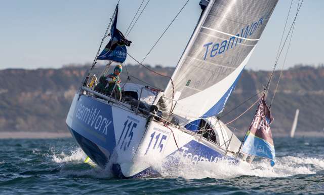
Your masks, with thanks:
M161 166L161 163L152 165L163 177L183 177L186 179L216 178L228 179L249 175L258 177L288 177L298 174L314 174L324 169L324 161L315 158L281 157L276 159L274 167L270 166L268 160L253 162L251 165L233 163L222 160L217 163L198 162L194 165L191 160L181 158L180 165L173 167ZM315 168L314 168L315 167Z

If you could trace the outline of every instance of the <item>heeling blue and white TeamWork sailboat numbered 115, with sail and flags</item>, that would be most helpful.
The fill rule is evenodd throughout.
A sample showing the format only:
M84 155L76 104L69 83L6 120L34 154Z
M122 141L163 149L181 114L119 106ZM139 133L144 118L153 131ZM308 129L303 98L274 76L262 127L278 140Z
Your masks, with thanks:
M259 156L273 165L272 118L264 95L243 142L218 116L276 4L277 0L200 1L201 16L166 89L128 82L121 97L115 88L110 94L95 90L92 73L97 60L109 60L107 72L111 62L122 63L127 57L131 42L116 28L117 5L110 41L100 54L98 50L67 115L67 127L78 145L95 164L108 166L119 178L158 175L152 162L176 166L179 158L196 165L222 159L251 163Z

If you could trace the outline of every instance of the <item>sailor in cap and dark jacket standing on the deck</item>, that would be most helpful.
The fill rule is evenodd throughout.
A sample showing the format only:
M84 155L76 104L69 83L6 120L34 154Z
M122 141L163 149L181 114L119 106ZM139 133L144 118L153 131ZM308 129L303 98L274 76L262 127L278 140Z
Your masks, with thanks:
M113 69L113 73L107 76L101 76L99 79L99 84L96 86L95 90L104 93L108 96L113 96L116 99L121 99L121 88L119 74L123 70L121 65L116 65Z

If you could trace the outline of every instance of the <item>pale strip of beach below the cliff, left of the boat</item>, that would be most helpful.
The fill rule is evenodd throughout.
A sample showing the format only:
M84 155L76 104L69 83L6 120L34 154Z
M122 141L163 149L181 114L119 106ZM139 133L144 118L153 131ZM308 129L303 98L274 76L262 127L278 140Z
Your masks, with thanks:
M49 139L72 137L69 132L0 132L0 139Z

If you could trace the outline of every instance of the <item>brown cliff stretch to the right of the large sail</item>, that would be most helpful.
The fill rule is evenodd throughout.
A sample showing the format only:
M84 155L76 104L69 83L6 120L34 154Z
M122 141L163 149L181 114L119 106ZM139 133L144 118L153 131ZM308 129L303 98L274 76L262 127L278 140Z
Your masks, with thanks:
M236 90L230 97L226 110L229 111L241 102L252 97L257 91L262 90L270 76L269 71L244 71ZM270 105L280 72L274 73L270 84L267 104ZM225 115L223 120L230 121L235 116L244 112L257 98L248 101L235 111ZM295 67L282 72L280 83L271 105L274 121L271 129L274 132L290 132L296 109L300 110L297 131L322 131L324 128L324 67ZM247 129L250 125L256 108L251 108L232 126Z

